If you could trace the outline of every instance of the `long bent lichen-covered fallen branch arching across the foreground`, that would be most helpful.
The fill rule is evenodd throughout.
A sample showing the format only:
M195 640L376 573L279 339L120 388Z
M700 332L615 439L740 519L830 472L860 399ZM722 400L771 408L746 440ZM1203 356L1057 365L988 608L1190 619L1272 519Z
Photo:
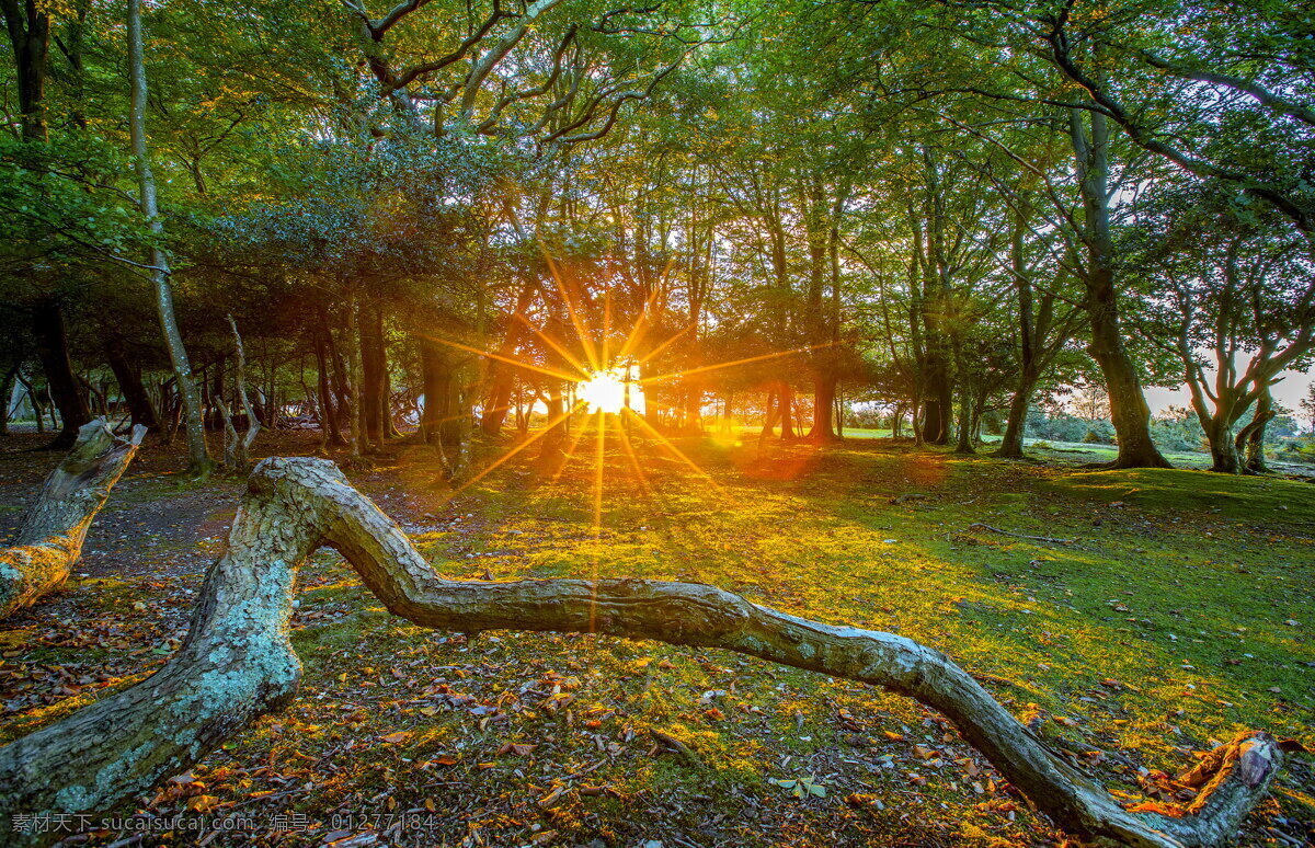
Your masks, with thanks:
M1193 777L1202 791L1180 816L1126 810L968 672L911 639L806 621L701 584L446 580L331 463L275 458L251 475L227 552L206 575L178 653L137 686L0 748L0 828L18 813L124 803L292 698L301 674L288 640L293 584L299 565L325 546L342 552L393 614L421 626L725 648L909 695L948 717L1040 811L1082 836L1155 848L1224 844L1282 763L1272 736L1245 734Z

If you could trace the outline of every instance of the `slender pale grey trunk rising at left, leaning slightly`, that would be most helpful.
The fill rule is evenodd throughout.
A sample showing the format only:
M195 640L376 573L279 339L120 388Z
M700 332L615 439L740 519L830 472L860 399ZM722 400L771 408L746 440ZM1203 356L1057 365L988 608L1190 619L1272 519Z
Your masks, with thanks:
M133 141L133 164L137 168L137 183L141 189L142 216L151 234L159 239L164 233L159 208L155 202L155 175L146 151L146 64L142 46L142 0L128 0L128 63L132 72L133 101L128 129ZM210 452L205 444L205 423L201 419L201 396L192 380L192 363L183 344L183 334L178 329L178 316L174 314L174 288L170 283L168 256L159 247L150 248L151 280L155 285L155 309L159 313L160 329L164 331L164 347L168 348L174 364L174 379L183 401L187 425L188 472L205 475L210 471Z

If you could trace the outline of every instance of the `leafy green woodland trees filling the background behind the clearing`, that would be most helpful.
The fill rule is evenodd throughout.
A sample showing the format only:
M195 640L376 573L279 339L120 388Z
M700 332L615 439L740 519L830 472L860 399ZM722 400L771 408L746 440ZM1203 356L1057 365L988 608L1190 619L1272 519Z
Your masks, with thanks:
M414 423L452 473L531 418L560 450L613 365L663 430L826 442L878 404L1002 456L1095 385L1116 464L1199 427L1258 471L1311 362L1297 8L3 9L0 396L57 444L121 410L204 469L197 430L245 418L229 316L263 426L366 455ZM1170 431L1144 389L1180 384Z

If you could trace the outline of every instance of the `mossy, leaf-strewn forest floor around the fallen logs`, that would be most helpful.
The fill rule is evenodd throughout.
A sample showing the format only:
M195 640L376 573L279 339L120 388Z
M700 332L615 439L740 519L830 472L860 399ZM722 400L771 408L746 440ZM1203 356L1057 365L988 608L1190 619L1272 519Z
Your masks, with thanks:
M686 463L614 435L600 454L586 434L558 468L535 446L455 497L423 447L348 476L451 577L692 580L918 639L1128 795L1241 728L1315 748L1315 485L878 439L679 439ZM59 459L20 452L37 443L0 440L0 531ZM262 434L258 450L316 443ZM484 444L475 468L512 444ZM66 590L4 622L0 743L141 681L179 644L242 490L181 464L147 447ZM143 816L231 831L68 844L1063 844L906 698L722 651L423 630L333 552L300 582L296 702L141 799ZM1312 841L1315 757L1295 755L1243 843Z

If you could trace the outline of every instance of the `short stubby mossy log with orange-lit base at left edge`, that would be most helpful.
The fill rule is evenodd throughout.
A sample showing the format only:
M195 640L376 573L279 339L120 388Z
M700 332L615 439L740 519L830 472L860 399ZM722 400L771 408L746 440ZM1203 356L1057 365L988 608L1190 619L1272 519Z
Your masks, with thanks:
M104 418L78 430L74 447L50 472L24 515L14 546L0 550L0 618L58 589L82 556L87 529L128 468L146 427L116 439Z

